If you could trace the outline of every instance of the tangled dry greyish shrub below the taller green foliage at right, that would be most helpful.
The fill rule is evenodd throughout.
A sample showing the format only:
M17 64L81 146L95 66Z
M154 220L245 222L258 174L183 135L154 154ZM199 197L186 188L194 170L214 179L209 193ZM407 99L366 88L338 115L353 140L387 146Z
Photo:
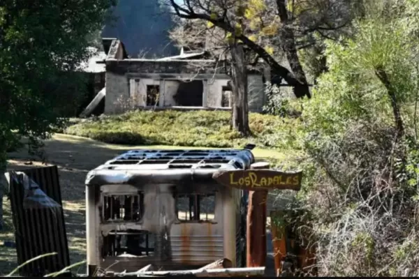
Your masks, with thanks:
M300 233L316 246L319 275L419 276L418 181L402 179L412 149L394 135L358 122L307 143L316 171L302 203L311 221Z

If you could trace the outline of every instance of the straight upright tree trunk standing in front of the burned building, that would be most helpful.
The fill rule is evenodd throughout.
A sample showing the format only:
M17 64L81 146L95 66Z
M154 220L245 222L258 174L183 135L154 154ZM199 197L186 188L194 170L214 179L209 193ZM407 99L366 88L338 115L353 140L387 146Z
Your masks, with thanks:
M231 126L243 136L250 135L247 104L247 70L244 65L243 45L230 45L231 75L233 80Z

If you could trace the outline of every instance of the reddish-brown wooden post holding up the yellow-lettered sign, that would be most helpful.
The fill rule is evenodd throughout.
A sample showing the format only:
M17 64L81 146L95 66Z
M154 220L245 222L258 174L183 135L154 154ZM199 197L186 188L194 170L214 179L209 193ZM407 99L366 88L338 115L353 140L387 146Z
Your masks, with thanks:
M269 163L259 162L251 169L268 169ZM247 210L247 267L266 264L266 199L267 190L249 191Z

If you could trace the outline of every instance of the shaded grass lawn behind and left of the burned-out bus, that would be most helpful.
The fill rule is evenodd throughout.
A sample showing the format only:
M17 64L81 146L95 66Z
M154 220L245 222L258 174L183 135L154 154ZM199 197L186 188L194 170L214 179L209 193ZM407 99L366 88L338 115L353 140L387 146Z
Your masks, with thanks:
M189 148L189 147L184 147ZM196 149L198 147L191 147ZM84 179L89 170L101 165L106 160L131 149L179 149L179 146L126 146L105 144L85 137L57 134L52 140L45 142L46 165L57 165L59 181L66 218L68 246L70 248L71 263L80 262L86 258L85 250L85 220L84 220ZM259 160L281 160L284 153L279 151L260 149L253 150ZM8 169L23 169L43 165L39 159L31 157L26 151L9 154ZM25 163L31 162L31 165ZM6 229L0 232L0 244L3 241L14 241L13 225L10 213L10 203L5 198L4 216ZM0 274L10 272L16 267L16 251L0 245ZM80 272L84 271L80 267Z

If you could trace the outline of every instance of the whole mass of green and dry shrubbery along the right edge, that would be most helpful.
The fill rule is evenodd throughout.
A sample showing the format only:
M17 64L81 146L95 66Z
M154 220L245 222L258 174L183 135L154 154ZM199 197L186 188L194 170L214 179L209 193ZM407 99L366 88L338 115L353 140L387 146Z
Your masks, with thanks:
M321 276L419 274L419 2L388 3L354 38L328 43L329 72L295 136L307 157L292 223L316 246Z

